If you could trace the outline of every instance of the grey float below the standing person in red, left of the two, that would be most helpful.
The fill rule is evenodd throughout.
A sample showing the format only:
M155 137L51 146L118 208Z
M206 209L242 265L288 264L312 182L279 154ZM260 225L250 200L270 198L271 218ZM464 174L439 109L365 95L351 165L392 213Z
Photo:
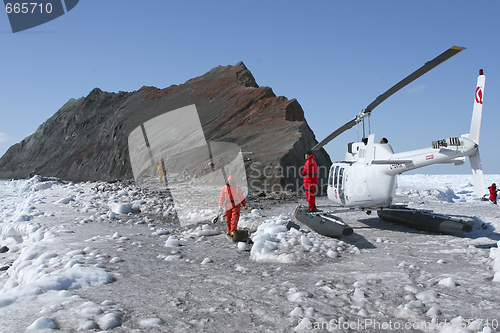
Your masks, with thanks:
M317 233L329 237L349 236L353 233L350 226L331 212L308 212L299 205L295 211L295 219Z

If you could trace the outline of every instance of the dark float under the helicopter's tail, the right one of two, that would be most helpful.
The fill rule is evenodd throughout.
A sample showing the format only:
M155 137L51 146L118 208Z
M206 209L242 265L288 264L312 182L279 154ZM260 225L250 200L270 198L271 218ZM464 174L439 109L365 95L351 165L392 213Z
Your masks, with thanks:
M462 220L434 214L429 210L417 210L406 207L388 207L377 211L384 221L402 224L410 228L432 232L471 232L472 226Z

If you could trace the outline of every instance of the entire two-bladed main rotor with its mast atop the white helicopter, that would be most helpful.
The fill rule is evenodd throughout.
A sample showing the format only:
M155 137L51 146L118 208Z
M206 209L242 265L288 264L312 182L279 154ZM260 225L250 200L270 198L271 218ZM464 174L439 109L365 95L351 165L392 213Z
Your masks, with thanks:
M362 110L354 119L351 121L345 123L343 126L337 128L335 131L333 131L329 136L327 136L323 141L319 142L316 144L314 147L312 147L312 150L319 150L321 149L324 145L326 145L328 142L332 141L334 138L339 136L340 134L344 133L354 125L358 124L359 122L363 122L363 138L365 138L365 122L364 119L366 117L369 117L372 110L375 109L380 103L385 101L387 98L398 92L400 89L408 85L409 83L413 82L414 80L418 79L434 67L440 65L441 63L445 62L446 60L450 59L457 53L465 50L465 47L460 47L460 46L452 46L448 50L444 51L440 55L438 55L436 58L432 59L431 61L426 62L422 67L405 77L403 80L399 81L396 83L394 86L392 86L389 90L387 90L385 93L382 95L378 96L373 102L371 102L366 109Z

